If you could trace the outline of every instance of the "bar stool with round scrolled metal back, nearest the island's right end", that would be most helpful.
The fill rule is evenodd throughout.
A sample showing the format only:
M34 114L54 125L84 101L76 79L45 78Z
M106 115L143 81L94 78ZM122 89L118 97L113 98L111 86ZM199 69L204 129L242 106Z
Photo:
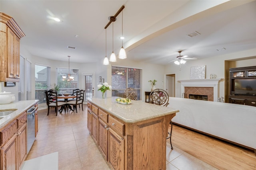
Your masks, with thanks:
M153 90L150 93L149 103L167 107L169 105L169 95L165 90L157 88L157 89ZM170 124L171 124L171 131L170 131L170 133L168 132L168 136L167 136L166 139L170 138L171 149L173 149L172 148L172 141L171 141L171 138L172 138L172 121L170 121Z

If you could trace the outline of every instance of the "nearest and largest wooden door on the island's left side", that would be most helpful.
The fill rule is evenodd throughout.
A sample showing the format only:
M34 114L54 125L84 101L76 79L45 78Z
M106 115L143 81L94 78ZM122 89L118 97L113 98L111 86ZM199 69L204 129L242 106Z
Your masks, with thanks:
M108 162L115 170L124 169L124 139L108 129Z

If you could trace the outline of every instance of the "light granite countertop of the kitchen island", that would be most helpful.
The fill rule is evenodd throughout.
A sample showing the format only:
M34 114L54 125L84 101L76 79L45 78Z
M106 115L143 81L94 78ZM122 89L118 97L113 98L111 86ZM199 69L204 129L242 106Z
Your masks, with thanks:
M142 102L142 100L132 100L132 104L128 105L118 104L116 98L118 97L110 97L106 99L92 98L92 100L87 100L126 123L136 123L179 112L178 109L172 107L149 104Z

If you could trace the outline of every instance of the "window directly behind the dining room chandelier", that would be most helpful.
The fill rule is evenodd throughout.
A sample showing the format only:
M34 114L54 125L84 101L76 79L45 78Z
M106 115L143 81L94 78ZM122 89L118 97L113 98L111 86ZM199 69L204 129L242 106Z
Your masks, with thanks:
M68 70L68 68L57 68L56 73L57 84L60 86L60 94L73 93L73 90L78 88L78 69ZM74 77L74 80L67 81L67 79L63 79L62 76L68 77L68 73Z

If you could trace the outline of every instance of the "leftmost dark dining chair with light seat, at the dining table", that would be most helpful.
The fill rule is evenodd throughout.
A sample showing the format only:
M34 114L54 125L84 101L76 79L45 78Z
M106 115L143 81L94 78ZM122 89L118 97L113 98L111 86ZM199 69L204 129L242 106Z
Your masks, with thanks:
M60 102L58 101L58 95L57 92L54 90L48 90L45 91L45 95L46 95L46 104L48 106L48 112L47 115L49 115L49 111L50 111L50 107L54 107L55 112L56 112L56 116L58 113L58 107L65 105L66 102Z

